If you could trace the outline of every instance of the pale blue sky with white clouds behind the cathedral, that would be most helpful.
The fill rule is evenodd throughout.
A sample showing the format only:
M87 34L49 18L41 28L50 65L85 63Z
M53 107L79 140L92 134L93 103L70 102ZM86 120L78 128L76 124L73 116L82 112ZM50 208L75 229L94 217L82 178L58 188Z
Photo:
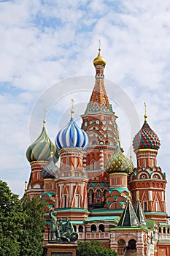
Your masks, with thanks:
M30 135L34 106L55 83L95 75L93 59L98 54L98 39L107 59L105 78L125 91L141 126L147 102L150 127L161 138L158 165L170 181L169 17L169 0L0 1L0 176L12 192L23 193L30 174L26 149L42 129L43 104L39 118L34 120L34 135ZM90 84L83 96L64 94L58 99L56 93L53 105L48 102L45 106L47 132L53 141L69 115L70 97L82 107L77 107L77 116L78 109L83 113L89 89L93 89L93 80L87 82ZM127 135L131 126L115 94L109 90L112 108L119 116L120 140L128 154L135 134ZM133 159L135 164L134 155ZM167 208L170 212L170 203Z

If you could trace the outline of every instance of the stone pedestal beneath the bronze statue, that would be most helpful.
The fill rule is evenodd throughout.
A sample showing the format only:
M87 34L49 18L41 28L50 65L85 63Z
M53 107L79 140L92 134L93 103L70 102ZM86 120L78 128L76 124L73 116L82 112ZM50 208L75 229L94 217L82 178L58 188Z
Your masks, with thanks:
M76 256L77 244L46 244L47 256Z

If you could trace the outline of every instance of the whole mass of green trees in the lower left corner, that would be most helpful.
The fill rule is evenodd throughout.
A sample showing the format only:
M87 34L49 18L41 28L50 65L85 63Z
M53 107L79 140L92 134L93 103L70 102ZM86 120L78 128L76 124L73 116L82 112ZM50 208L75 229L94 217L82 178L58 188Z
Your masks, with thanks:
M0 255L41 256L45 228L45 203L39 197L12 194L7 183L0 181Z

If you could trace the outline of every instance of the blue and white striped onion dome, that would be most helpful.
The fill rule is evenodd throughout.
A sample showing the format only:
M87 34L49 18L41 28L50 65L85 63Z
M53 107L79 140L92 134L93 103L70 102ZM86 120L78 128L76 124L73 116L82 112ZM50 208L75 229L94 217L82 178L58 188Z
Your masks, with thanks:
M82 148L85 150L88 146L88 135L71 118L66 127L58 132L55 144L59 149Z

